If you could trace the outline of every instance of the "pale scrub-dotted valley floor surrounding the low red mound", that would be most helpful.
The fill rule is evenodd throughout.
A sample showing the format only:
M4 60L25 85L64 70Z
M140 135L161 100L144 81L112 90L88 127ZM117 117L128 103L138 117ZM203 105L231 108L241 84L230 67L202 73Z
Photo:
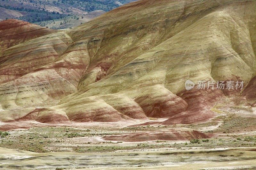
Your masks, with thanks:
M255 169L253 108L216 106L212 110L218 113L216 118L195 125L131 126L150 120L66 125L1 123L1 130L9 135L0 138L0 169ZM7 130L14 124L32 128ZM125 142L103 138L182 128L212 137L196 142Z

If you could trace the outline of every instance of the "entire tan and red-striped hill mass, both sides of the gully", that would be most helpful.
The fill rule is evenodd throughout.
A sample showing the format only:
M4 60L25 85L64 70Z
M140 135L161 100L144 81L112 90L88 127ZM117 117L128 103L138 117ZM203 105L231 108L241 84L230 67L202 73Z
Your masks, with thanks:
M208 121L215 103L240 93L186 91L185 81L248 84L256 68L255 18L256 1L140 0L67 33L26 42L38 42L40 50L27 49L26 43L14 46L0 55L7 59L0 68L5 69L2 81L8 79L0 86L0 120ZM53 53L54 61L44 61L51 56L45 44L58 54ZM23 51L35 52L31 57L38 68L29 67L32 61L20 55ZM15 59L21 69L8 70ZM60 99L59 105L49 103Z

